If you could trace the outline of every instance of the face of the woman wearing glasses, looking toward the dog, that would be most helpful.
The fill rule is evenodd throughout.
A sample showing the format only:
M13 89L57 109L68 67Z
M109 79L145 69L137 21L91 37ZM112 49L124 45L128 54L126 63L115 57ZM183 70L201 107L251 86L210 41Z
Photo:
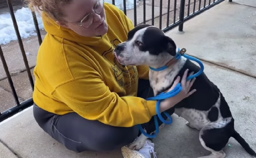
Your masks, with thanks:
M73 0L62 8L62 27L85 37L101 36L107 33L108 25L104 0Z

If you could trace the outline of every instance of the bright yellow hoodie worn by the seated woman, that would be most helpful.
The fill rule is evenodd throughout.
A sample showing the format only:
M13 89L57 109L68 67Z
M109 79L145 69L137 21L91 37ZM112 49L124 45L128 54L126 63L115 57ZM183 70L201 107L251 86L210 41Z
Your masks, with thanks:
M134 26L114 5L105 3L105 12L109 28L102 37L79 36L43 14L47 34L34 69L33 100L58 115L76 112L112 126L148 122L156 101L136 96L138 78L148 79L149 68L120 65L112 53Z

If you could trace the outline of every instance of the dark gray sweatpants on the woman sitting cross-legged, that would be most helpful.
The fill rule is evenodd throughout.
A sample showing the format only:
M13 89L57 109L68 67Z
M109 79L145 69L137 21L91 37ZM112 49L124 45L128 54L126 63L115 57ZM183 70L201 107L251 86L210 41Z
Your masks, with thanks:
M149 80L139 79L138 97L146 99L152 96ZM87 120L74 112L56 115L36 104L33 113L36 122L46 133L75 152L114 150L133 142L140 134L138 126L114 127L97 120Z

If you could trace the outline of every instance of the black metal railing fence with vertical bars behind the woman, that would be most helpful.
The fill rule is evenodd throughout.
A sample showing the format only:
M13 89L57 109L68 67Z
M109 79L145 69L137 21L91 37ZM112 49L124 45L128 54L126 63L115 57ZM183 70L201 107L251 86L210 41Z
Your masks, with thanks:
M175 27L178 27L178 30L179 31L183 31L183 25L184 25L184 22L186 22L187 20L199 15L200 13L204 12L205 10L225 1L225 0L164 0L165 2L168 1L167 3L167 20L166 20L166 26L164 28L162 28L162 20L163 20L163 15L166 15L163 14L163 0L150 0L151 1L151 5L152 5L152 18L151 18L151 21L152 21L152 25L154 25L154 20L156 18L159 19L159 28L162 29L164 32L167 32L169 30L172 30L173 28ZM173 22L171 23L171 21L169 20L170 19L170 4L171 4L171 1L174 2L174 9L172 10L173 11ZM180 6L177 7L177 1L180 3ZM20 47L20 50L21 50L21 53L22 53L22 56L23 56L23 60L24 60L24 63L25 63L25 67L26 67L26 70L27 70L27 73L28 73L28 79L30 81L30 84L31 84L31 87L32 87L32 90L34 91L34 81L33 81L33 78L32 78L32 74L30 72L30 67L29 67L29 63L28 63L28 60L27 60L27 56L26 56L26 53L25 53L25 50L24 50L24 46L23 46L23 43L22 43L22 40L21 40L21 36L20 36L20 33L19 33L19 30L18 30L18 25L17 25L17 21L16 21L16 18L15 18L15 15L14 15L14 10L13 10L13 7L12 7L12 4L11 4L11 0L6 0L7 4L8 4L8 7L9 7L9 11L10 11L10 14L11 14L11 18L12 18L12 21L13 21L13 26L15 28L15 31L16 31L16 34L17 34L17 37L18 37L18 43L19 43L19 47ZM141 23L138 23L138 24L145 24L146 22L148 22L146 20L146 0L140 0L140 2L143 2L143 22ZM156 3L159 3L159 16L154 16L154 9L155 9L155 2ZM187 2L187 3L186 3ZM229 2L232 2L232 0L229 0ZM198 4L199 3L199 4ZM112 4L115 5L115 0L112 0ZM127 14L127 9L126 9L126 0L123 0L123 11L125 14ZM134 0L134 25L138 25L137 24L137 1ZM196 4L198 5L198 10L196 10ZM185 10L185 8L187 7L187 9ZM191 7L193 7L191 9ZM179 18L178 20L177 19L177 10L179 10ZM187 12L187 14L185 15L185 12ZM39 45L41 45L42 43L42 38L41 38L41 34L40 34L40 30L39 30L39 26L38 26L38 22L37 22L37 18L36 18L36 14L35 12L31 12L31 14L33 15L33 19L34 19L34 24L35 24L35 27L36 27L36 32L37 32L37 37L38 37L38 41L39 41ZM31 105L33 105L33 99L30 98L22 103L19 102L18 100L18 95L16 93L16 90L15 90L15 87L14 87L14 84L13 84L13 81L12 81L12 78L11 78L11 75L10 75L10 72L8 70L8 66L6 64L6 60L5 60L5 57L4 57L4 54L3 54L3 51L1 49L1 46L0 46L0 57L1 57L1 60L2 60L2 63L3 63L3 66L4 66L4 69L5 69L5 72L6 72L6 76L7 76L7 79L8 79L8 82L9 82L9 85L11 87L11 90L12 90L12 94L13 94L13 97L15 99L15 102L16 102L16 105L13 106L12 108L4 111L4 112L0 112L0 122L2 122L3 120L7 119L8 117L11 117L12 115L15 115L17 114L18 112L30 107Z

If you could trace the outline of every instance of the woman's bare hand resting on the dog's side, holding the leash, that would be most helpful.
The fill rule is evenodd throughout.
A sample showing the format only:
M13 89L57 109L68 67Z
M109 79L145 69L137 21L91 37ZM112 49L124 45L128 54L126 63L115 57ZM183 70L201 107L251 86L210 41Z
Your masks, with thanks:
M187 98L189 95L193 94L196 91L195 89L190 91L190 88L192 87L196 78L187 81L188 72L189 72L189 69L187 69L184 72L183 77L181 79L182 90L176 96L165 99L164 101L162 101L160 103L160 111L161 112L172 108L174 105L176 105L177 103L179 103L183 99ZM194 72L190 73L189 76L191 76L193 73ZM172 87L167 92L172 91L177 86L179 81L180 81L180 77L178 76L177 79L174 81Z

